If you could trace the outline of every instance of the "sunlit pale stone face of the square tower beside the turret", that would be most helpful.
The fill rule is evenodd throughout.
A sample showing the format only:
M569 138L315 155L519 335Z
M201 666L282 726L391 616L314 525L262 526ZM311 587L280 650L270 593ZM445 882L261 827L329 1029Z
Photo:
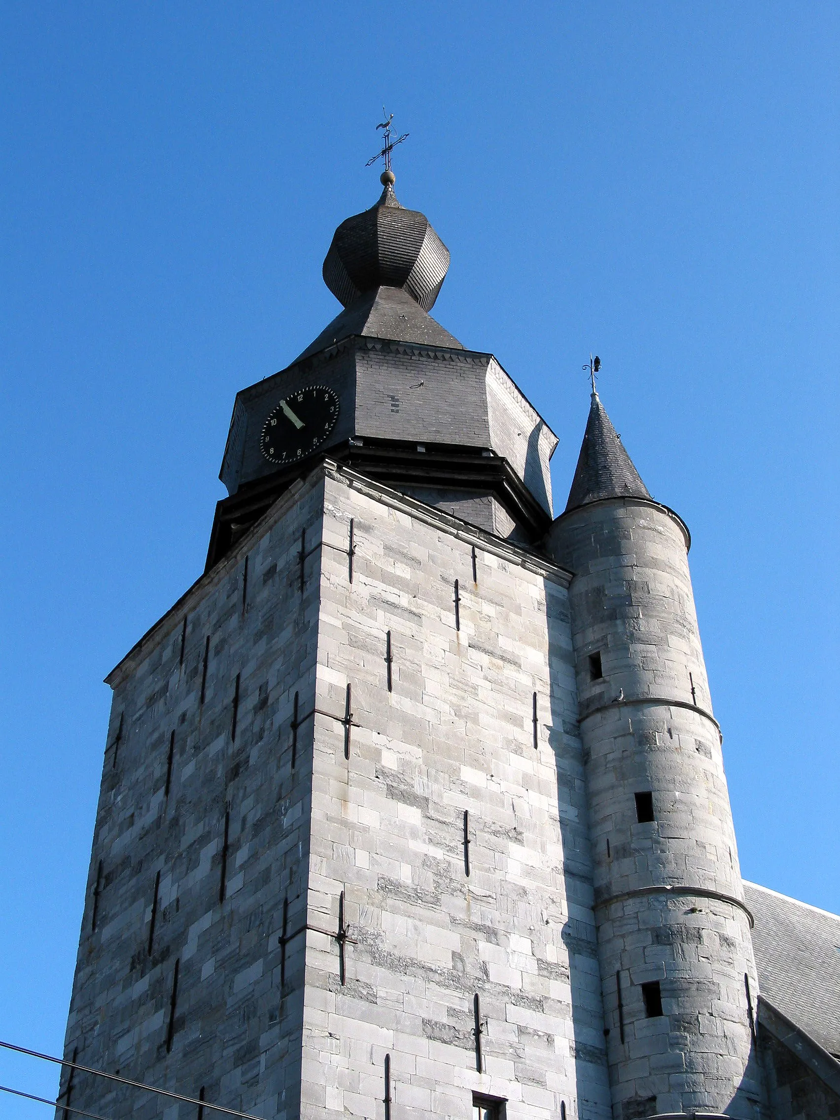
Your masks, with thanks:
M399 1120L606 1118L568 577L348 472L325 503L305 1113L383 1120L389 1056Z

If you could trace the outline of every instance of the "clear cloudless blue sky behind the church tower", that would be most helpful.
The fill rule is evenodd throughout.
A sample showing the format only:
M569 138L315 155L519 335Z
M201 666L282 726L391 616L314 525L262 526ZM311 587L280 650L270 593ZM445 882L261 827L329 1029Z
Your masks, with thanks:
M691 529L744 875L840 911L838 57L801 0L7 0L0 1037L62 1049L102 678L203 568L236 390L338 309L383 102L451 252L435 316L558 432L558 504L592 349Z

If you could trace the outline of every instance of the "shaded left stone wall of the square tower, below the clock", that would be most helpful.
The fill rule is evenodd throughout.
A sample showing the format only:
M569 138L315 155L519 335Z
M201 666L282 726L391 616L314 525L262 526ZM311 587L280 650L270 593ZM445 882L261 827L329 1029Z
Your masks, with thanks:
M114 698L64 1051L188 1096L204 1088L208 1101L272 1118L299 1114L306 943L288 943L283 968L278 939L284 898L288 932L306 923L312 727L299 729L292 769L290 722L295 692L301 712L315 692L320 551L306 560L302 595L299 551L304 529L307 549L317 544L321 517L323 485L298 487L109 679ZM99 1116L195 1116L85 1074L74 1074L71 1096Z

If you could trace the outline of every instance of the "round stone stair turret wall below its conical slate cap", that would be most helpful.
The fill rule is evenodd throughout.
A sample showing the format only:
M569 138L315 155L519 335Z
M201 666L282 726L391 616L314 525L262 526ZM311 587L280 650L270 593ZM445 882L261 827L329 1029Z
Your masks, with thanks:
M745 974L753 1015L757 981L687 532L652 502L607 500L559 519L549 547L576 573L615 1118L693 1109L756 1117ZM652 794L652 822L640 823L636 793ZM654 981L663 1014L648 1017L642 984Z

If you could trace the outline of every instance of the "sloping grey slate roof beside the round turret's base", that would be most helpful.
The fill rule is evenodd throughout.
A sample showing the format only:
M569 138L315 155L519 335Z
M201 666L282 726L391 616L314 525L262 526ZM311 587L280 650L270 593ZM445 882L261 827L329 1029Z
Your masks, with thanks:
M840 1055L840 916L744 884L755 917L763 996L829 1054Z

